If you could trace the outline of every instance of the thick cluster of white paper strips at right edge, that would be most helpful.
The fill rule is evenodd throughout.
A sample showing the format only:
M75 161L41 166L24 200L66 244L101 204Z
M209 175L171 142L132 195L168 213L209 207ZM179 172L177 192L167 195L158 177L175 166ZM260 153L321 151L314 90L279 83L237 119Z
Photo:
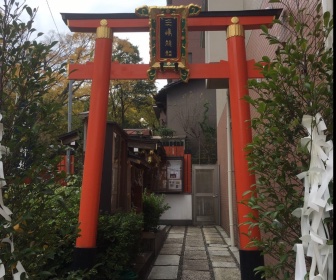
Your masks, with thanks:
M311 258L309 280L333 279L333 246L324 219L333 209L328 184L333 180L333 143L326 141L324 130L327 129L321 114L315 117L305 115L302 125L308 136L301 139L301 145L310 152L309 170L297 175L304 182L304 203L302 208L293 211L295 217L301 218L302 244L295 244L296 264L295 280L307 276L305 257Z

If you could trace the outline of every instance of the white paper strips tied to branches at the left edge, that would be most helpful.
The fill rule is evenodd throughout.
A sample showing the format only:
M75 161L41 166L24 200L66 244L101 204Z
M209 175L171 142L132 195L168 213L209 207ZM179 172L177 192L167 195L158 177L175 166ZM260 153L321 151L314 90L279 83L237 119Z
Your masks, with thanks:
M0 121L2 120L2 115L0 114ZM11 217L12 211L5 206L3 202L3 197L2 197L2 188L6 186L6 181L5 181L5 176L4 176L4 171L3 171L3 163L1 161L2 158L2 153L8 152L8 149L6 147L1 145L1 140L3 136L3 124L0 123L0 216L2 216L8 223L4 226L6 228L11 226ZM1 237L0 237L1 238ZM14 242L13 242L13 236L7 236L1 239L0 243L8 243L10 248L11 248L11 253L14 252ZM14 280L20 280L20 276L22 273L26 273L25 269L23 268L22 264L20 261L17 262L16 264L16 270L17 272L13 272L12 270L12 276ZM5 264L3 261L0 259L0 280L4 279L4 276L6 275L6 270L5 270ZM26 278L28 278L26 274Z

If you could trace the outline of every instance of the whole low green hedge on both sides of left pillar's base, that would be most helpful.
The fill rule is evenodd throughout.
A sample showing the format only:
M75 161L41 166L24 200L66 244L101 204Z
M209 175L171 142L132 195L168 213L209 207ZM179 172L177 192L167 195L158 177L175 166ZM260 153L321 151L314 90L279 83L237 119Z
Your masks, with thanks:
M101 215L95 266L87 271L72 271L79 234L80 183L80 177L71 176L66 187L47 184L42 189L30 184L10 187L5 192L6 197L12 198L9 201L20 201L20 205L7 204L15 210L13 224L17 226L4 228L15 239L14 254L10 246L1 247L6 268L21 261L29 277L37 280L121 279L120 273L131 268L140 249L143 228L142 214L134 211ZM5 279L11 279L10 275L8 271Z

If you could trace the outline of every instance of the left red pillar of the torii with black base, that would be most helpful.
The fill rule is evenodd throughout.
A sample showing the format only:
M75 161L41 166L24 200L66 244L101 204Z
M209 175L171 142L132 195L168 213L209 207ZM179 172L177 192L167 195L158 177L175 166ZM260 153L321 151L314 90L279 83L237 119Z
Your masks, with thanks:
M97 28L90 111L82 192L79 208L80 236L76 240L74 267L93 264L99 214L100 186L106 134L108 91L110 84L112 32L105 19Z

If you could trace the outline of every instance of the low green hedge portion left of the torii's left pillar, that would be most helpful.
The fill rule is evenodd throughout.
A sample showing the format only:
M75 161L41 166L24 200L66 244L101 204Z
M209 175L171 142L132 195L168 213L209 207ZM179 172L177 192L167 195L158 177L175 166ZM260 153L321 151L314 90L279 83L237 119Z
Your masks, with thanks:
M15 250L12 254L9 246L1 248L8 269L5 279L11 278L10 265L17 261L31 278L67 279L78 236L79 183L72 176L67 187L46 182L8 186L4 195L14 226L3 229L13 234Z

